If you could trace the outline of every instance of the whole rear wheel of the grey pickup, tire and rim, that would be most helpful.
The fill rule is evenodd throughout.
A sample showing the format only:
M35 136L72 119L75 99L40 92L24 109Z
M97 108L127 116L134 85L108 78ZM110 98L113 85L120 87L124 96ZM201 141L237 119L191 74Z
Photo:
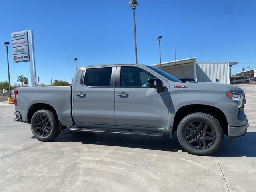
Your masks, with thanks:
M40 141L51 141L58 137L60 128L58 117L49 110L38 110L31 119L31 130L34 136Z

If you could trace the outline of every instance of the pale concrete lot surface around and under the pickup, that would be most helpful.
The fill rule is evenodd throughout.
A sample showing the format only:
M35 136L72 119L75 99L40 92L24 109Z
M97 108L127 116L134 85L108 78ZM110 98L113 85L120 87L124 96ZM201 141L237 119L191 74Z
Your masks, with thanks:
M0 191L256 191L253 89L244 88L254 126L232 144L225 137L211 156L188 154L176 135L171 140L66 129L53 142L39 142L30 124L12 120L13 104L2 104Z

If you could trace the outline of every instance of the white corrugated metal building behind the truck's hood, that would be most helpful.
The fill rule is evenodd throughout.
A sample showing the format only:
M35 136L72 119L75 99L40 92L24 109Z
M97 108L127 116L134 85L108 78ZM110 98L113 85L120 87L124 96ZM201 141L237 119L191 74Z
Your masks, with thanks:
M165 72L176 78L230 84L230 66L238 62L196 62L196 57L161 63ZM160 68L160 64L152 65Z

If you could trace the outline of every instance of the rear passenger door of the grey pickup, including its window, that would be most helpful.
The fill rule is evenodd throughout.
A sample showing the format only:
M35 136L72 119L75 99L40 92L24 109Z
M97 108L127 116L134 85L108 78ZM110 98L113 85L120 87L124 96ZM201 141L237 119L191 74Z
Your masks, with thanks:
M114 86L116 66L86 68L73 88L76 125L115 125Z

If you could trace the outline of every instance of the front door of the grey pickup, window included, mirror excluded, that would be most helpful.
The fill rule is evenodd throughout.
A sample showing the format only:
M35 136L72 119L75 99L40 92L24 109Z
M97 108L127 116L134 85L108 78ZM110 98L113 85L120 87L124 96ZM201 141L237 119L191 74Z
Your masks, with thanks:
M165 91L157 93L147 86L155 78L138 66L119 66L116 72L115 119L118 126L166 128L170 94L169 84L162 80Z

